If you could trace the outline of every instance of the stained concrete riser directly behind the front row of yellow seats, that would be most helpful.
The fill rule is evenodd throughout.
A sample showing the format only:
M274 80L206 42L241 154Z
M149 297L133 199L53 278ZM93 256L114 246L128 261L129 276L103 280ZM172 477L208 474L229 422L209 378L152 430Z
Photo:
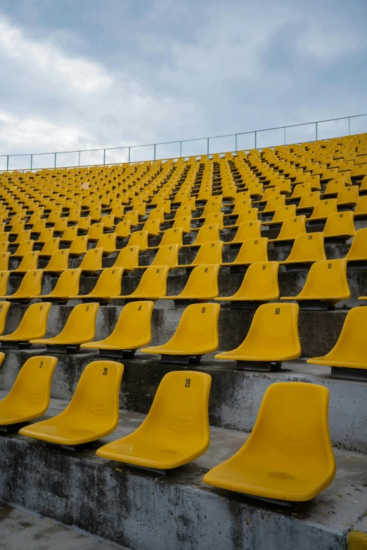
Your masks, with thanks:
M0 369L0 388L10 390L16 375L30 355L37 351L7 351ZM78 355L54 354L58 365L53 374L51 396L64 400L72 397L84 367L97 360L96 353ZM124 360L124 375L120 390L120 408L133 412L148 412L162 378L172 370L185 367L162 365L145 354L134 360ZM199 367L212 377L210 391L210 424L235 430L250 431L254 426L263 395L278 381L306 381L326 386L330 391L330 437L333 445L367 453L366 383L330 378L330 367L307 365L292 361L283 372L244 372L234 362L221 362L211 357Z

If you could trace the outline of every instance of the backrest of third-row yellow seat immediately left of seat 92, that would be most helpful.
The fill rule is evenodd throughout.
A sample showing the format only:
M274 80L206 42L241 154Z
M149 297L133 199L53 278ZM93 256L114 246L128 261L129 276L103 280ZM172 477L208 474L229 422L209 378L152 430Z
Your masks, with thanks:
M251 263L235 296L253 300L277 300L279 263L277 261Z

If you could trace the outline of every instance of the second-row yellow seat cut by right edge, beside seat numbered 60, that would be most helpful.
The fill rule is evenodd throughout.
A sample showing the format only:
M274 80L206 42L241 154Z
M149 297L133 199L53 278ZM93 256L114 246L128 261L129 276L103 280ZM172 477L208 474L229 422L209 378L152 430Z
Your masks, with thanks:
M360 300L366 300L361 297ZM354 380L367 380L367 308L349 310L337 343L322 357L307 360L314 365L332 367L331 376Z

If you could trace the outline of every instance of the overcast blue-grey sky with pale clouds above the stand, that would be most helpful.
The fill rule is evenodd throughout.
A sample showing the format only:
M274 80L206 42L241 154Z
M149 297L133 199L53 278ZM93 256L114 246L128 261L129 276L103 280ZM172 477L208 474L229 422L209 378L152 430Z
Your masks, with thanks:
M157 143L367 112L366 29L367 0L0 0L0 152ZM367 117L351 124L367 131ZM288 143L313 131L288 131ZM319 137L345 131L345 122L328 124ZM253 139L240 136L238 148ZM233 148L210 143L211 152ZM178 153L157 148L157 157Z

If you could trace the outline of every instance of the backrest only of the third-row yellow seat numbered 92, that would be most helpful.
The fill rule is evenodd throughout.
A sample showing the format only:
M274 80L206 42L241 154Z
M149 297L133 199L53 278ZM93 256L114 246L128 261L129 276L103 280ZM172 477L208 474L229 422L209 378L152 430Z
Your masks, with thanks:
M313 263L299 296L335 296L337 299L349 299L347 260L324 260Z

